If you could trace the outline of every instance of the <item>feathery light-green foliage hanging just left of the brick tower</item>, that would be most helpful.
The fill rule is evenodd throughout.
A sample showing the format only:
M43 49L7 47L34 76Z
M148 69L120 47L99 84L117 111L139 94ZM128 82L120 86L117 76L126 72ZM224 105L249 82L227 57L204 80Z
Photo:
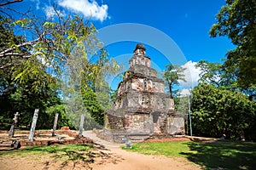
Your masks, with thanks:
M62 88L67 96L67 109L69 115L73 115L73 122L79 124L80 114L86 113L84 128L97 128L103 125L104 112L112 105L110 88L105 79L119 71L120 67L116 61L108 59L104 48L94 55L93 62L89 62L83 54L81 56L80 50L83 49L76 48L65 65L66 80L62 81ZM76 113L73 114L73 111Z

